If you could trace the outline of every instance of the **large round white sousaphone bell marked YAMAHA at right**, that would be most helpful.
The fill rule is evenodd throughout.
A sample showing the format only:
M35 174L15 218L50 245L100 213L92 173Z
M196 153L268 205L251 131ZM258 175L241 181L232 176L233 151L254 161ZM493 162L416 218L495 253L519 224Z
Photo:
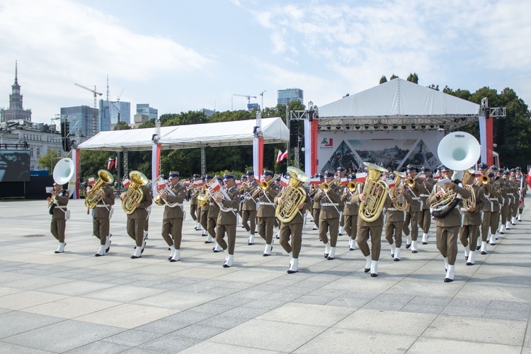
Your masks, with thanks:
M461 180L463 171L476 164L481 155L481 147L473 135L451 132L442 138L437 153L442 164L454 171L452 180Z

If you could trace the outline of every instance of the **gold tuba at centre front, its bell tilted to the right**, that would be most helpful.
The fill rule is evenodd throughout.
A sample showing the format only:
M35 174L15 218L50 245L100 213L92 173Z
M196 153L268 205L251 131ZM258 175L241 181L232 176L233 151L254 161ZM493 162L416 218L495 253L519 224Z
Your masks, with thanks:
M282 205L277 205L275 215L280 222L290 222L297 215L299 211L298 205L306 199L306 188L299 185L299 183L308 183L309 176L297 169L297 167L289 166L287 172L290 173L290 183L282 192Z

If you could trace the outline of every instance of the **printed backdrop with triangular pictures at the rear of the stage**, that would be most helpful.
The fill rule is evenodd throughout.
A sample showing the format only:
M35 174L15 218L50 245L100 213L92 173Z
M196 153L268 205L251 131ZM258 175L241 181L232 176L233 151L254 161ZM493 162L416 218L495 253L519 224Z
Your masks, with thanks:
M392 171L413 164L435 169L444 132L319 132L319 171L370 162Z

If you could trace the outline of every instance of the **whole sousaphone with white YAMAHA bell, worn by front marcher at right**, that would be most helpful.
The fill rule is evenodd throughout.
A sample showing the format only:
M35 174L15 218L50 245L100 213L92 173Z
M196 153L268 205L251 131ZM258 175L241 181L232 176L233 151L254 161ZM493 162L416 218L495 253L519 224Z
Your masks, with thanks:
M481 154L481 147L476 138L469 133L452 132L442 138L437 152L442 164L454 171L454 176L452 176L453 180L468 179L470 178L470 171L467 169L476 164ZM462 176L463 171L468 176ZM457 193L453 190L445 190L445 194L430 205L430 213L433 217L445 217L457 207L459 201L460 199L457 198Z

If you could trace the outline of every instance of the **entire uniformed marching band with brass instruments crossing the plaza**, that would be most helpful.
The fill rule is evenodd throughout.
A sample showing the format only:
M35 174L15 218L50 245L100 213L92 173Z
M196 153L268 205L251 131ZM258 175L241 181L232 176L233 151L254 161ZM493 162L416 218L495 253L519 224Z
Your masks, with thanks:
M341 166L312 178L293 167L280 177L265 169L260 183L254 180L254 171L248 171L246 181L239 185L232 173L225 173L223 178L207 175L202 182L199 175L194 175L193 181L188 182L181 181L178 171L171 171L167 180L163 176L156 178L151 188L143 173L131 171L129 180L124 181L127 190L120 195L127 214L127 234L135 240L131 258L142 257L147 239L144 232L147 209L155 202L164 206L161 236L169 247L168 260L181 260L186 214L183 203L189 194L195 229L207 236L205 244L214 243L213 252L224 251L224 268L234 264L240 212L247 243L254 244L255 229L265 241L263 256L272 253L273 229L275 223L280 224L280 246L290 256L289 274L299 271L307 213L315 223L313 229L319 230L319 240L325 246L324 258L331 261L336 257L343 224L348 249L353 251L358 246L365 257L365 273L372 277L378 275L382 233L390 246L392 260L400 261L402 233L408 236L406 249L411 246L412 253L418 253L418 229L423 232L422 244L428 244L430 224L435 220L436 246L445 262L444 281L452 282L458 259L457 241L464 247L465 264L474 265L476 251L486 254L487 245L495 245L499 235L522 221L527 183L520 167L497 169L481 163L475 169L459 172L447 164L439 166L433 176L424 166L409 165L404 172L389 173L370 163L365 164L366 172L355 171L349 176L345 176ZM100 241L95 256L105 256L110 250L115 195L110 188L113 176L100 170L98 177L86 195L85 205L93 210L93 236ZM47 198L52 215L50 229L59 242L55 253L64 253L66 245L69 192L63 187L63 183L54 183L52 196Z

